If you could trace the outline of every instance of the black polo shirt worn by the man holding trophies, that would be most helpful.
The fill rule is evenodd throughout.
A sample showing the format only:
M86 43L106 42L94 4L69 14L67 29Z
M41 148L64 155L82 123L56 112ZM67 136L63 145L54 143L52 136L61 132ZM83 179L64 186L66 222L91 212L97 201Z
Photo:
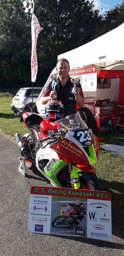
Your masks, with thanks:
M50 91L52 91L52 87L51 87L51 83L50 82L47 87L46 87L46 91L43 95L43 97L45 96L49 96ZM68 116L68 115L72 115L76 113L76 100L75 100L75 95L72 94L72 88L74 87L74 85L71 83L71 77L68 76L68 81L65 84L65 86L63 87L61 85L61 83L58 83L58 86L56 86L56 92L57 92L57 99L61 100L61 102L64 105L64 109L65 109L65 114L64 116ZM81 84L77 84L76 87L81 88ZM82 92L82 88L81 88L81 94L80 96L82 96L83 98L83 92Z

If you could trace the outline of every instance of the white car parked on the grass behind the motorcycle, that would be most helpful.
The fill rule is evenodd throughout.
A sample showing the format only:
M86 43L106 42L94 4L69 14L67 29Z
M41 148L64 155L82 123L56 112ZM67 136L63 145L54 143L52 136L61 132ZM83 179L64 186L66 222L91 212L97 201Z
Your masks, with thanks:
M39 94L43 87L33 87L33 105L36 103ZM24 87L20 88L16 95L14 96L11 104L11 109L14 113L18 111L25 110L27 112L31 112L32 107L32 87ZM33 108L33 112L37 112L37 107Z

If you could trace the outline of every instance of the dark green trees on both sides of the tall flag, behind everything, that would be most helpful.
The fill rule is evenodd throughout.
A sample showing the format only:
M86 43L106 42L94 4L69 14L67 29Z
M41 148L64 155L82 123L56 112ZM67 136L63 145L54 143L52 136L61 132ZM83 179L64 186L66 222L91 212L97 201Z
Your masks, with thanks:
M25 78L28 83L31 15L22 11L22 0L1 0L0 10L1 79L9 86L24 83ZM92 40L102 16L88 0L35 0L34 14L44 27L37 40L37 83L43 83L59 54Z

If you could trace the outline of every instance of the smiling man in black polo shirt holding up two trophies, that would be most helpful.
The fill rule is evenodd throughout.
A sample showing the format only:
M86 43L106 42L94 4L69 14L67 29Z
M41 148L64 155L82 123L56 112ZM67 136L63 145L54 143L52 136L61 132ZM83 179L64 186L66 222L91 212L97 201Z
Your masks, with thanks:
M56 70L58 73L58 86L56 85L56 91L52 90L51 83L48 84L46 90L41 98L42 104L47 104L47 102L52 99L54 95L57 95L57 99L62 101L65 109L65 116L72 115L76 113L76 104L80 107L84 105L84 98L82 93L82 88L80 83L76 85L75 89L77 94L72 94L72 89L74 87L71 83L71 78L68 73L70 70L68 60L62 58L57 61Z

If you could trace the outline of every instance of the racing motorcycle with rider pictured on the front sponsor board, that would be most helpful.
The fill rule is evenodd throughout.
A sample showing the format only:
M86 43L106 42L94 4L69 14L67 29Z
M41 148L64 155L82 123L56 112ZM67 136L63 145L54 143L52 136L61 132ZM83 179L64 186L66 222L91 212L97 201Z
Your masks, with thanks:
M62 205L60 208L59 215L52 221L52 227L65 226L65 225L79 225L80 222L77 222L78 218L77 210L70 205Z

